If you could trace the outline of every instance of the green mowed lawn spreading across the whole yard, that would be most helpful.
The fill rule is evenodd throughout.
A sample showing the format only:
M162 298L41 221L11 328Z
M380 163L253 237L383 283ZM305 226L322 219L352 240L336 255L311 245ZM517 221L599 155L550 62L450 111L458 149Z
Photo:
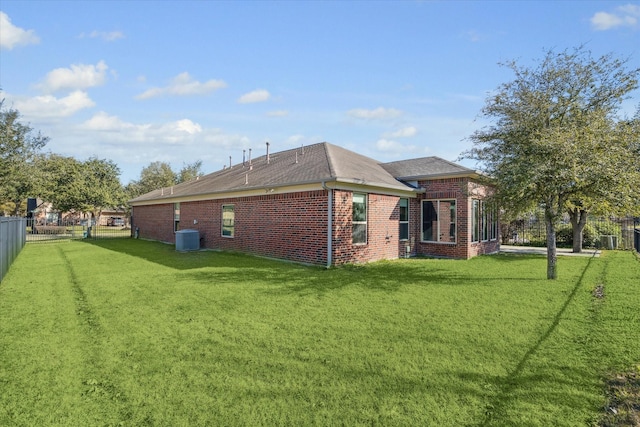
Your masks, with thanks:
M0 284L0 425L596 425L607 377L640 369L640 262L545 275L28 244Z

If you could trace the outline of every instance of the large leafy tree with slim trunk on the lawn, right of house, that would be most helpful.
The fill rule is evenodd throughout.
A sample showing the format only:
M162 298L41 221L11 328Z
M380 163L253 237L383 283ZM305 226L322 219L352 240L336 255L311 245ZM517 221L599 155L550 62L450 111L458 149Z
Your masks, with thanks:
M637 140L637 127L619 131L625 121L617 116L638 87L640 69L629 70L627 62L611 54L593 58L579 47L547 51L533 66L501 64L515 78L487 98L482 115L492 124L473 133L473 147L463 154L491 177L503 208L544 209L549 279L557 277L556 228L563 213L603 207L620 191L638 190L623 183L637 182L637 167L620 164L624 154L612 155L631 156L628 147Z

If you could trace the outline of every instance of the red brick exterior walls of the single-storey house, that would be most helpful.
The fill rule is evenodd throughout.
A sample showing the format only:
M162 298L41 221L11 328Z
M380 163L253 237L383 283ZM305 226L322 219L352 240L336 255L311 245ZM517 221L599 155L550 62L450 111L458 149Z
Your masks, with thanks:
M498 250L499 240L470 243L471 201L468 197L471 187L468 179L440 179L424 181L420 185L426 193L409 199L407 241L400 241L398 237L400 198L374 193L367 195L366 244L352 243L352 192L332 190L332 264L404 257L407 246L411 255L465 259ZM420 241L421 201L425 199L456 200L455 243ZM222 205L227 204L234 206L234 237L222 236ZM328 191L325 190L182 202L180 229L198 230L205 248L326 265L328 204ZM443 219L448 216L449 212L441 213ZM133 226L140 228L141 238L175 242L172 203L134 207L133 221ZM448 226L444 233L448 236Z

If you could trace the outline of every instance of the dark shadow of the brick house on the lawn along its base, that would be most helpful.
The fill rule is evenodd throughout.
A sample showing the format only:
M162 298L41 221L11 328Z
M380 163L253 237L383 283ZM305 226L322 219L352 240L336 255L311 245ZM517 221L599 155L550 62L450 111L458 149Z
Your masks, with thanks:
M178 252L173 245L135 239L89 240L86 244L140 258L178 271L190 271L185 281L198 283L262 283L273 285L274 294L323 295L345 287L395 292L403 286L492 286L497 281L540 280L530 269L515 269L506 264L544 262L537 255L491 255L472 260L412 258L379 261L365 265L345 265L326 269L252 255L211 250ZM479 274L482 268L495 266L493 277ZM505 269L509 269L509 273ZM541 264L540 273L543 272Z

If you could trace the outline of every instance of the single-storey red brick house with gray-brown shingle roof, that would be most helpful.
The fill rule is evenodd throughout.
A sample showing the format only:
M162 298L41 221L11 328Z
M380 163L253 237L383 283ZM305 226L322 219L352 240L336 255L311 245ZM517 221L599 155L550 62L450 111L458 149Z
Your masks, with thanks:
M341 265L499 250L472 170L437 157L379 163L329 143L267 154L130 201L140 238Z

